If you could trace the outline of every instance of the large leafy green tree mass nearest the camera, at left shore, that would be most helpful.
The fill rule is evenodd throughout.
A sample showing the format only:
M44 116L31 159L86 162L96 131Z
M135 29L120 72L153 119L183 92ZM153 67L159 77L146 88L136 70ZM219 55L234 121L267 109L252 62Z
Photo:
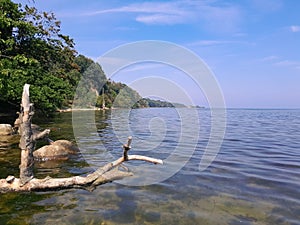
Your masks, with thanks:
M20 102L32 84L35 106L54 111L72 99L80 74L73 40L61 34L53 13L0 0L0 98Z

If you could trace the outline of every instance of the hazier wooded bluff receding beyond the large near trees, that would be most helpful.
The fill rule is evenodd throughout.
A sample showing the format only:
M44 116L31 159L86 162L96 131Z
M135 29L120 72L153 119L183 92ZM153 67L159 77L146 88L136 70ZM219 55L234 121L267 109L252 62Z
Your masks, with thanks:
M75 58L83 75L78 84L75 107L91 108L146 108L146 107L185 107L182 104L142 98L138 92L126 84L106 78L98 63L79 55ZM96 104L95 104L96 102Z

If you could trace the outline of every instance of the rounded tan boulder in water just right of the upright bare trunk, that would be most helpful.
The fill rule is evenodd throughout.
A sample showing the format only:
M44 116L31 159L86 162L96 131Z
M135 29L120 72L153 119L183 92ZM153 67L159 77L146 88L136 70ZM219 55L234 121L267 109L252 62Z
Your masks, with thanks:
M70 155L77 154L78 147L67 140L58 140L50 145L45 145L33 152L33 156L37 160L67 160Z

